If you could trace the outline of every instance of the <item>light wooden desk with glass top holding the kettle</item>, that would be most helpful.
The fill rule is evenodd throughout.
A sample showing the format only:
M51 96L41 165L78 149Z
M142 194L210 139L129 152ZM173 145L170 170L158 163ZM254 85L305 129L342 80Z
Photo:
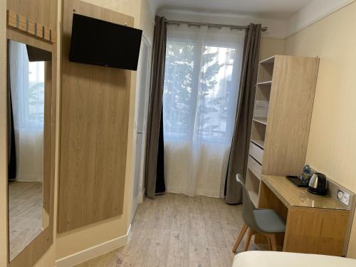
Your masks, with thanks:
M310 194L286 177L262 175L258 207L286 219L286 233L278 236L283 251L342 256L350 211L335 199ZM255 243L266 239L256 235Z

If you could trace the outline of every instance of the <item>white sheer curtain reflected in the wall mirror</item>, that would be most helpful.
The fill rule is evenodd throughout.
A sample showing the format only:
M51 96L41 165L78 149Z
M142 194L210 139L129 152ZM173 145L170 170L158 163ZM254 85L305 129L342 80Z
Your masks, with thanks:
M44 63L29 62L23 43L9 43L16 180L43 180Z

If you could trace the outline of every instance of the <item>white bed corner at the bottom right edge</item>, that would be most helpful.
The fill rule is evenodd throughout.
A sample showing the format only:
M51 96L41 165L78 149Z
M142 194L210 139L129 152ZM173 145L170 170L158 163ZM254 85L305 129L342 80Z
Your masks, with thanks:
M233 267L356 267L356 260L334 256L276 251L237 254Z

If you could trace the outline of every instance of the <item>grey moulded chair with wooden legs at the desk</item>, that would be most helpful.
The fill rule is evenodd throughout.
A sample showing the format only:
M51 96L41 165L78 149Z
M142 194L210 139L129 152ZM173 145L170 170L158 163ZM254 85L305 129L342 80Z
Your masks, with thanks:
M241 174L236 175L236 181L241 184L244 195L244 204L242 207L242 218L244 225L240 231L239 237L236 239L232 252L236 253L241 240L247 231L246 243L244 244L244 251L248 250L251 237L255 234L263 234L268 239L268 246L270 250L277 251L276 234L284 233L286 231L286 221L279 216L276 211L272 209L256 209L252 204L248 195L248 191L243 182Z

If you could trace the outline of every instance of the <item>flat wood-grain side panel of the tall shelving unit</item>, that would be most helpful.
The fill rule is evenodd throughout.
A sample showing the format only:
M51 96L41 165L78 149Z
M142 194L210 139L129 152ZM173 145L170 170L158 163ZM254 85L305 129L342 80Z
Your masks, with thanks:
M276 56L262 174L300 174L305 164L318 58Z

